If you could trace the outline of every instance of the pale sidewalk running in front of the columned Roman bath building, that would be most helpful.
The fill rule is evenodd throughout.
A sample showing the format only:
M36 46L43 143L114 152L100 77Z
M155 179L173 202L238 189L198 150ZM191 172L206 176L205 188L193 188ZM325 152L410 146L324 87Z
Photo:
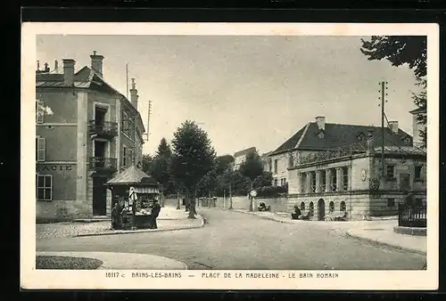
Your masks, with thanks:
M241 209L233 209L232 211L260 216L261 218L286 224L314 224L325 226L331 230L341 231L343 234L347 234L358 240L399 248L421 255L426 254L426 237L393 232L393 227L398 225L398 221L395 219L384 218L381 220L351 222L301 221L293 220L290 214L285 213L251 212Z

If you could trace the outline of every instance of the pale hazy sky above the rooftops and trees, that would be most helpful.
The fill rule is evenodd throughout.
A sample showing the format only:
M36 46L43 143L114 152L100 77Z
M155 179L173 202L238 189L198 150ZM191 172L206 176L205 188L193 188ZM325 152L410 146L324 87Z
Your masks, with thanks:
M368 37L362 37L368 38ZM186 119L205 130L218 155L256 147L275 150L302 126L326 123L381 126L381 81L388 82L385 112L412 134L416 92L413 71L389 61L368 61L361 37L310 36L37 36L37 60L74 59L76 71L89 55L104 56L103 77L126 95L135 78L138 110L153 154L170 142Z

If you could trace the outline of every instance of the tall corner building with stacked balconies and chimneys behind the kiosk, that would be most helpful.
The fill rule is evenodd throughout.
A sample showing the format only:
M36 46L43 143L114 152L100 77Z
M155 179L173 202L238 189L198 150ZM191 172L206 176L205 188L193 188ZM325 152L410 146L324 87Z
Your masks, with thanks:
M63 60L36 72L37 217L110 216L103 183L142 159L145 126L130 101L103 79L103 56L75 72ZM50 108L51 114L48 114Z

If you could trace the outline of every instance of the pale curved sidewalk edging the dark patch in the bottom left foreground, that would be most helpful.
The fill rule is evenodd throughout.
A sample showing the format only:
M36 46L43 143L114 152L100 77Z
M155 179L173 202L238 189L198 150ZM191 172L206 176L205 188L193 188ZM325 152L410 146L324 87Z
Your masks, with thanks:
M95 258L103 262L97 270L187 270L187 265L178 260L136 253L37 252L36 256Z

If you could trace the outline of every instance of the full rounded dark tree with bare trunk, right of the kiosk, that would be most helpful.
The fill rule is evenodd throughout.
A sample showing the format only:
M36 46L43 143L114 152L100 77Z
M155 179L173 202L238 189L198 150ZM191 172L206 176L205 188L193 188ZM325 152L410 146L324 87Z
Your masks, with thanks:
M185 188L186 201L190 205L188 218L195 218L197 184L215 167L215 150L208 134L190 120L178 127L172 147L172 175Z

